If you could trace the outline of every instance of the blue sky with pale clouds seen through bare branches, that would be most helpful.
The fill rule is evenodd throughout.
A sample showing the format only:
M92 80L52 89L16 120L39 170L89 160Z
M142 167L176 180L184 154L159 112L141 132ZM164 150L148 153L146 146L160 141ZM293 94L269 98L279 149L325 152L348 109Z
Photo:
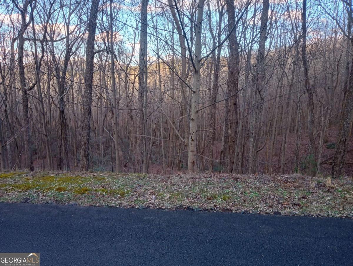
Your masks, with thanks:
M67 2L70 0L65 0ZM236 0L235 6L237 9L237 13L239 14L243 9L247 0ZM327 24L326 20L332 20L329 16L325 14L325 10L329 11L332 16L337 18L337 21L345 27L344 21L345 16L342 12L337 11L335 6L331 1L323 0L321 1L322 6L319 5L320 1L317 0L309 0L308 1L308 42L314 40L319 37L324 31L322 29L323 24ZM104 48L103 39L106 38L106 29L108 29L108 15L109 15L109 2L101 1L100 5L100 14L98 17L97 24L97 34L96 34L96 45L97 50ZM185 21L185 30L188 35L188 40L190 41L190 17L192 16L192 11L195 10L195 5L193 5L192 0L187 1L179 1L179 7L183 5L182 18ZM287 10L287 5L289 6L289 12ZM294 35L291 29L291 19L292 22L297 21L297 35L300 34L300 19L301 19L301 0L271 0L270 1L270 11L269 11L269 25L268 30L270 34L278 35L278 40L285 39L285 42L290 45L293 42ZM38 1L38 7L35 11L35 27L37 31L37 37L40 38L40 33L43 32L43 25L45 16L43 16L44 11L47 8L44 6L48 6L47 0ZM72 8L73 5L71 5ZM13 37L13 34L17 34L17 30L15 33L11 27L12 22L11 19L15 22L17 28L19 25L19 14L16 8L13 8L13 4L9 3L8 5L0 6L0 21L2 22L0 33L2 46L5 50L8 50L10 47L10 38ZM73 31L72 38L78 36L79 34L83 34L83 39L77 43L80 45L77 50L78 56L84 55L84 34L85 27L80 27L80 25L85 25L87 20L87 14L89 13L89 5L80 4L77 10L71 17L71 25L69 27L70 31ZM58 5L54 5L54 8L58 8L52 16L49 24L56 30L55 38L60 38L65 36L66 27L65 22L68 17L70 9L68 6L65 8L59 8ZM341 7L340 7L341 8ZM227 35L227 22L226 22L226 8L224 9L225 15L223 16L222 23L222 37L226 37ZM11 13L11 15L10 15ZM124 57L126 60L130 57L131 53L133 53L133 64L137 64L138 62L138 51L139 51L139 18L140 18L140 1L136 0L128 0L128 1L114 1L113 4L113 16L114 16L114 40L116 46L116 52L120 54L120 56ZM204 20L203 20L203 49L202 54L208 54L212 47L213 42L210 34L210 25L208 22L208 14L211 16L211 28L214 32L217 31L217 21L219 20L219 15L217 12L217 4L215 0L210 1L210 10L207 6L204 8ZM255 14L255 16L254 16ZM335 15L336 14L336 15ZM261 17L261 5L256 4L255 0L252 0L251 5L248 8L248 12L243 17L243 20L239 24L237 28L237 35L240 46L244 47L249 44L250 41L253 41L253 34L250 30L250 26L252 25L253 18L255 18L255 41L258 40L258 32L259 32L259 19ZM11 18L11 19L10 19ZM321 25L322 24L322 25ZM335 26L335 23L331 23ZM244 31L244 25L247 25L249 28ZM334 27L335 28L335 27ZM172 42L172 32L173 34L173 42ZM159 55L162 58L169 58L172 53L180 54L180 46L178 35L176 33L176 29L174 28L174 22L172 21L172 17L170 15L169 7L167 5L167 0L150 0L148 7L148 55L149 61L153 62L157 58L156 51L159 50ZM26 32L26 36L32 36L31 27L29 27ZM64 49L65 41L56 42L54 46L55 53L58 54L58 57L62 54ZM190 44L192 45L192 44ZM270 45L275 45L273 43L268 42L268 47ZM174 47L174 49L173 49ZM256 47L256 42L255 42ZM31 51L33 49L32 45L29 42L26 42L26 49ZM134 49L134 50L133 50ZM222 55L227 56L228 50L227 45L223 45Z

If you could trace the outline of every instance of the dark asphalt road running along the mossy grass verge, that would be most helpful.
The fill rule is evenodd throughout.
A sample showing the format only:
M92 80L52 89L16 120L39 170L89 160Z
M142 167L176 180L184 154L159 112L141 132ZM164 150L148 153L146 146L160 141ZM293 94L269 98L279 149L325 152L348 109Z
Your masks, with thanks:
M41 265L353 265L353 220L0 203L0 252Z

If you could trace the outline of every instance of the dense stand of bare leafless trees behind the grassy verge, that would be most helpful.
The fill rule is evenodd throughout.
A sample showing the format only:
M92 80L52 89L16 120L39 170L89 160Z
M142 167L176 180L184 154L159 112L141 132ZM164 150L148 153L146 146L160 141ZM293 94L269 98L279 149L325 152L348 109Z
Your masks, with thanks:
M0 0L1 170L353 175L352 0Z

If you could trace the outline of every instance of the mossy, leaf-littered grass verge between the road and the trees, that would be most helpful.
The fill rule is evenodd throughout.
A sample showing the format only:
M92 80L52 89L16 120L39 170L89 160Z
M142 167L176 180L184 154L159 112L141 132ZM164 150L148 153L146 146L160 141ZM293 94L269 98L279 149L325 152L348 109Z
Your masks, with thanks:
M5 172L0 202L353 218L353 177Z

